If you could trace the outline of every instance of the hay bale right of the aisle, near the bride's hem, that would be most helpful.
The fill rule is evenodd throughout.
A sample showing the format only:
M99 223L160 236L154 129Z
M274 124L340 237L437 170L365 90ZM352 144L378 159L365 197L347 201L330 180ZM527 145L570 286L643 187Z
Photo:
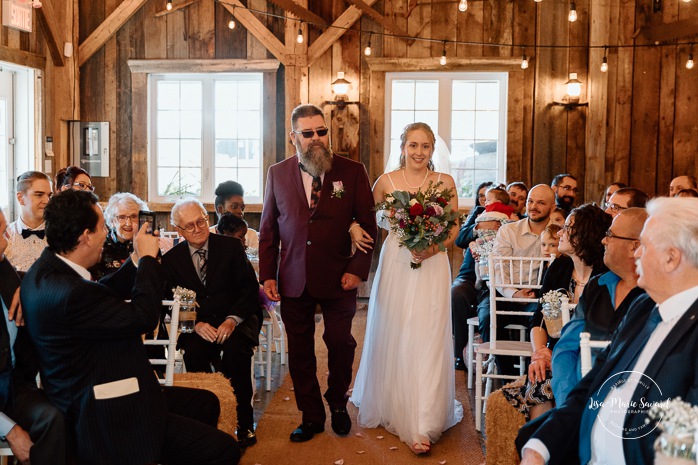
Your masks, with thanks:
M526 417L509 403L501 389L490 394L485 415L487 465L518 465L521 462L514 440L524 423Z

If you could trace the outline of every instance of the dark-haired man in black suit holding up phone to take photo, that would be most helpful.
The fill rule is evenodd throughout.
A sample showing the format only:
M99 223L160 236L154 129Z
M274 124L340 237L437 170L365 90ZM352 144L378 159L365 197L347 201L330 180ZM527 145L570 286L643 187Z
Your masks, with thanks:
M22 281L22 308L44 389L66 417L76 462L237 463L235 441L210 426L218 417L215 395L183 388L164 394L148 362L141 334L155 328L162 308L157 237L144 225L131 259L108 277L110 285L135 282L126 302L87 271L107 235L97 197L66 190L46 205L44 217L48 248Z

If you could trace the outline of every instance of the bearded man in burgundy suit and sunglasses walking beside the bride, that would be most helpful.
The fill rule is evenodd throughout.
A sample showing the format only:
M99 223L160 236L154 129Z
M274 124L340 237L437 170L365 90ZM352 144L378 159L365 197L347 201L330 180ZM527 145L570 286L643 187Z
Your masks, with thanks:
M324 396L332 429L351 430L347 391L356 341L351 322L356 288L368 278L371 251L352 255L349 228L358 223L376 237L373 195L366 169L330 150L322 110L300 105L291 115L296 156L269 168L259 231L259 278L272 300L281 300L288 335L289 368L296 404L303 413L291 441L304 442L325 429L315 359L315 308L322 310L330 374Z

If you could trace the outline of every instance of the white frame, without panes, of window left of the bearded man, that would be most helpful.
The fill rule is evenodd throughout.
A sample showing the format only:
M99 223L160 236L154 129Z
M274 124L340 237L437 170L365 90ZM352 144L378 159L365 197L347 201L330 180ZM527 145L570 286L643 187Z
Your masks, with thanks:
M248 204L261 204L264 194L264 73L253 72L206 72L206 73L182 73L159 72L148 75L148 171L150 182L148 183L148 199L156 203L172 203L181 196L163 196L158 193L158 165L157 165L157 83L160 81L201 81L203 83L202 102L202 134L201 134L201 195L197 198L204 203L213 203L216 189L214 176L215 162L215 81L217 80L255 80L260 83L260 160L259 160L259 196L249 195L245 192L245 202Z

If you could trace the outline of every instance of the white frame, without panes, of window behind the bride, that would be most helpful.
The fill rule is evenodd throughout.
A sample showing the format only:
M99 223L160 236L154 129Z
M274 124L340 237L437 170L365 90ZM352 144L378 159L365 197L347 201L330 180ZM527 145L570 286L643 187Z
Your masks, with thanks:
M507 103L509 89L509 73L502 72L467 72L467 71L428 71L428 72L386 72L385 73L385 142L383 166L388 162L391 149L391 118L392 118L392 83L394 80L432 80L439 82L439 128L438 135L444 140L451 151L451 105L452 81L457 80L488 80L499 81L499 138L497 139L497 179L495 182L506 182L506 151L507 151ZM449 173L450 174L450 173ZM477 186L473 186L475 188ZM459 207L474 206L472 197L460 197Z

